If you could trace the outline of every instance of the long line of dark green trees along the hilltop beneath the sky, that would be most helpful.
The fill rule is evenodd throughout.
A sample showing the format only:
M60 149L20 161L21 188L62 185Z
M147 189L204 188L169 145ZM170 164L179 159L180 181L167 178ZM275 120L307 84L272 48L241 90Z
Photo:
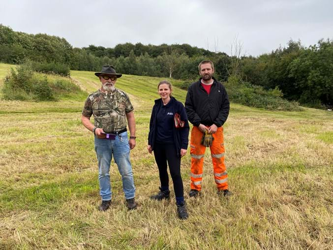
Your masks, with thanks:
M198 64L209 59L215 77L228 81L231 75L241 82L278 88L283 97L302 104L333 105L333 41L321 39L305 47L290 40L286 47L258 57L236 53L215 53L188 44L118 44L114 48L89 45L73 48L66 39L48 34L27 34L0 24L0 61L62 63L72 70L98 71L112 64L123 74L172 77L191 82L198 78Z

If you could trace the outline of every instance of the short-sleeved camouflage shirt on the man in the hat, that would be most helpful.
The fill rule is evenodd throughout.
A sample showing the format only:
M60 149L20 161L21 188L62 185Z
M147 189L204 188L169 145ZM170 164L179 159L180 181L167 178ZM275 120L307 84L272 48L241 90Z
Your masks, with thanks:
M87 97L82 115L89 118L93 115L95 126L109 133L125 128L126 113L133 109L125 92L116 89L106 95L98 90Z

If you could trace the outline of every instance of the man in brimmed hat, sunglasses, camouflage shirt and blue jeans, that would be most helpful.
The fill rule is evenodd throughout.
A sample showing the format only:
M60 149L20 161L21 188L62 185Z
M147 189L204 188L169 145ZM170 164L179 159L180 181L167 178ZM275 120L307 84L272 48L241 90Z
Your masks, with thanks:
M98 160L98 180L102 203L100 211L110 207L112 191L110 185L110 164L112 156L118 165L128 209L135 209L135 187L129 152L135 147L135 120L133 106L128 95L115 88L117 74L113 66L104 65L95 73L102 85L90 94L82 111L82 123L95 137L95 151ZM93 115L94 125L90 118ZM127 139L126 120L130 137Z

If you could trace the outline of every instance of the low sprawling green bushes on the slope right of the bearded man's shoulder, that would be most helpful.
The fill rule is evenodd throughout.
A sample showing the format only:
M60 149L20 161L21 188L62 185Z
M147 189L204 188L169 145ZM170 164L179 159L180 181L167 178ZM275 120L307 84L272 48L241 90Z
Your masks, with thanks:
M261 86L240 83L237 77L231 76L224 83L229 99L242 105L264 108L268 110L301 111L297 102L289 102L282 98L282 92L276 87L265 90Z

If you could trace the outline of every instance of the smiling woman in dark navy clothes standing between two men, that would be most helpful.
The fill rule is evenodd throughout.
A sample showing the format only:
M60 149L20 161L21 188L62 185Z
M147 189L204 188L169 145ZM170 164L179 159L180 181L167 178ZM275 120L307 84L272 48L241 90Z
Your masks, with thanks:
M162 200L170 197L169 176L174 183L177 212L181 219L187 219L188 214L184 201L184 189L181 176L181 157L187 152L189 125L185 108L182 102L172 97L172 85L168 81L162 81L157 86L160 99L155 100L151 111L151 122L148 135L148 152L154 153L161 182L160 191L151 196L151 199ZM178 113L182 127L176 128L174 117Z

